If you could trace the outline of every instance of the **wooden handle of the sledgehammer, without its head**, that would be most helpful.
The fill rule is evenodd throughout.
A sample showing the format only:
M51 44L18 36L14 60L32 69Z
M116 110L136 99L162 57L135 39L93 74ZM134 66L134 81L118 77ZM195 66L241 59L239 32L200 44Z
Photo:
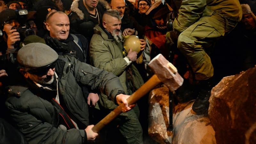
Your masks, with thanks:
M136 92L134 92L128 99L127 102L129 105L136 103L141 97L151 91L154 87L160 84L161 81L159 78L154 75L152 76L145 84L143 84ZM97 123L93 128L93 132L99 132L105 125L110 123L113 119L119 116L122 113L122 108L125 107L122 103L107 116L105 116L99 123Z

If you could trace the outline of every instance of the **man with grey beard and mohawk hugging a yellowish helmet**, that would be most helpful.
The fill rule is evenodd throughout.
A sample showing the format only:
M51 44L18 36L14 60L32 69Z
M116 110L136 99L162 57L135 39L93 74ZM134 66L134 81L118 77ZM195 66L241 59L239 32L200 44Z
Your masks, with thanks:
M129 50L125 55L122 43L121 17L116 10L107 10L103 14L102 23L94 28L94 35L90 42L90 60L94 67L112 72L119 77L125 94L132 94L144 83L139 71L132 64L137 59L137 52ZM132 34L130 34L132 35ZM125 34L124 34L125 36ZM141 50L146 47L144 39L141 41ZM117 105L100 94L100 105L109 111ZM98 102L99 103L99 102ZM138 120L139 108L135 106L131 111L122 113L115 119L115 127L123 135L128 144L141 144L142 128ZM115 142L118 143L118 142Z

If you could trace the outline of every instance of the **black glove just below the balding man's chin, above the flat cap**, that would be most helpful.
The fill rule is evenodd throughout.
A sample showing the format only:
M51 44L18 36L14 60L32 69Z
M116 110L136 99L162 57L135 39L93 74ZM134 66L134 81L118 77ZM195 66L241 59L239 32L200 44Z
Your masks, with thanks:
M62 52L62 53L70 53L71 49L68 47L68 44L61 43L57 38L53 38L48 36L45 39L45 43L49 45L52 49L54 49L56 52Z

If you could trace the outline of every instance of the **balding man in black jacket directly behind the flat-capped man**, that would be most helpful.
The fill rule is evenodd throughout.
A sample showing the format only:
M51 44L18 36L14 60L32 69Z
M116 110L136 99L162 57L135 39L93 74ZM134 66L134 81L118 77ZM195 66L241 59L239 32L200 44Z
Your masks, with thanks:
M69 19L68 16L61 11L56 11L50 13L46 17L46 28L49 31L49 36L52 38L56 38L60 43L65 44L68 49L68 54L62 52L57 47L54 47L55 41L51 38L45 38L46 43L51 46L59 55L75 55L75 57L82 62L89 62L86 58L89 58L88 54L88 41L87 39L79 34L70 34L69 33ZM72 51L70 53L70 50ZM64 50L65 51L65 50ZM98 94L89 93L87 88L84 88L84 94L87 98L87 104L95 106L96 102L99 100ZM89 93L89 94L88 94ZM92 103L91 103L92 101Z

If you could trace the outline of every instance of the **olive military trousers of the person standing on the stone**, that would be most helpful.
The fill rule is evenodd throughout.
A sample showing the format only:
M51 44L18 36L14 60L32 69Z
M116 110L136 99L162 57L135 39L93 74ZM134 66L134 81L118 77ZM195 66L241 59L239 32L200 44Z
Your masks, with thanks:
M213 48L216 40L223 36L206 22L210 19L218 21L225 32L232 30L237 24L237 22L222 18L220 15L212 15L202 17L180 33L178 49L192 68L193 73L190 73L189 77L195 80L206 80L213 76L212 62L205 51L210 51L209 49Z

